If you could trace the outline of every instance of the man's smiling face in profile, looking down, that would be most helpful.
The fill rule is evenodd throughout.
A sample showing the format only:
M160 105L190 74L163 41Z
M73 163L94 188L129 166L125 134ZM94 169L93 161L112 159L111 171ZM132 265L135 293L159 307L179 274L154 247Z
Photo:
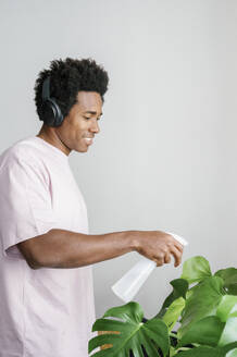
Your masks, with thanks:
M70 150L86 152L100 128L98 120L102 115L102 99L96 91L79 91L77 102L64 118L57 134Z

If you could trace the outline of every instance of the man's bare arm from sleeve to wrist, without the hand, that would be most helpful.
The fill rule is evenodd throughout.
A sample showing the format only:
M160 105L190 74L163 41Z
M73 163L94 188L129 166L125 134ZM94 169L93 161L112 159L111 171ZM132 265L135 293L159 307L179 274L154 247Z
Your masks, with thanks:
M135 250L135 231L86 235L53 229L28 239L30 256L18 246L33 269L78 268Z

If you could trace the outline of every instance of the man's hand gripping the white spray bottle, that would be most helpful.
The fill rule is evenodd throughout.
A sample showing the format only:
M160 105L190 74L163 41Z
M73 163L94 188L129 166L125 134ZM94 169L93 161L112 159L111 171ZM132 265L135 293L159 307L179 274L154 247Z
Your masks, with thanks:
M183 245L172 235L161 231L138 231L134 234L135 250L153 260L158 267L171 262L171 256L174 257L175 267L180 264Z

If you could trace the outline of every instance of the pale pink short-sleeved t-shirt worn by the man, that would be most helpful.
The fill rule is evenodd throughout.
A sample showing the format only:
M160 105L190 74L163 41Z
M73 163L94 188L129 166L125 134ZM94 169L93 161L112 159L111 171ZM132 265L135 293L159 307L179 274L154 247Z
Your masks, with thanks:
M33 270L16 244L51 229L88 233L68 157L39 137L0 156L0 357L87 357L91 267Z

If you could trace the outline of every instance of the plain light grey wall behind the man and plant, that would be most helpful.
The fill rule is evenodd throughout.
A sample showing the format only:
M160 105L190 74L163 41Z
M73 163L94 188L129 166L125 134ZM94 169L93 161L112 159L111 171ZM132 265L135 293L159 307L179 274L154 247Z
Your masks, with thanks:
M0 151L41 126L34 84L53 59L93 58L110 75L101 133L71 167L91 233L167 230L212 270L237 267L237 1L1 0ZM95 266L97 316L136 253ZM158 312L179 276L157 269L136 296Z

